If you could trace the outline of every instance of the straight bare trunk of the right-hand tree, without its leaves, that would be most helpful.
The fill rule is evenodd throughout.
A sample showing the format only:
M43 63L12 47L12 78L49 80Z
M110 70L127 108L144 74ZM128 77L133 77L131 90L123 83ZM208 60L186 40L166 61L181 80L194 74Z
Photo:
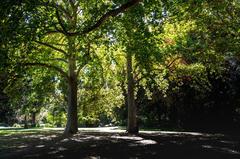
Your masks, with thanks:
M137 108L134 100L134 79L132 73L132 55L127 54L127 83L128 83L128 126L129 134L138 134Z

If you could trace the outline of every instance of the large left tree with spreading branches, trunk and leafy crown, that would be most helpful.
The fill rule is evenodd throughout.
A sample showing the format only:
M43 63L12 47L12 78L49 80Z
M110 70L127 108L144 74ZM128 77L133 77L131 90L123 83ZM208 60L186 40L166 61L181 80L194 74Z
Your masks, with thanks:
M23 0L1 2L1 36L11 49L11 63L55 70L68 84L66 134L78 131L77 85L88 63L91 43L108 29L104 23L140 0ZM99 29L102 31L100 32Z

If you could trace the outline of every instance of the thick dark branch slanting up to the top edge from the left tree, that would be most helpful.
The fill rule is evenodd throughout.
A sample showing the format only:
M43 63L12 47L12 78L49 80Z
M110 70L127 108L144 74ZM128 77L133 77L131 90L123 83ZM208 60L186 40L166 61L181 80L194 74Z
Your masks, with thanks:
M140 1L142 0L130 0L127 3L121 5L120 7L113 9L113 10L109 10L107 13L105 13L104 15L101 16L101 18L92 26L87 27L85 29L83 29L82 32L75 32L75 33L68 33L68 35L70 36L76 36L76 35L84 35L87 34L97 28L99 28L106 20L108 20L110 17L115 17L117 16L119 13L122 13L124 11L126 11L128 8L138 4Z

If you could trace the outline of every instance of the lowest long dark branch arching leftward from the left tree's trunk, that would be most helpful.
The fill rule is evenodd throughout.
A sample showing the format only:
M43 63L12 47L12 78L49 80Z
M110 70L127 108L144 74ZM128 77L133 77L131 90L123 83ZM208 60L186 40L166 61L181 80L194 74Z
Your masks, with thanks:
M34 62L34 63L21 63L22 66L40 66L40 67L45 67L45 68L49 68L52 70L55 70L57 72L59 72L64 78L66 78L67 80L69 80L68 74L63 71L61 68L57 67L57 66L53 66L50 64L46 64L46 63L39 63L39 62Z

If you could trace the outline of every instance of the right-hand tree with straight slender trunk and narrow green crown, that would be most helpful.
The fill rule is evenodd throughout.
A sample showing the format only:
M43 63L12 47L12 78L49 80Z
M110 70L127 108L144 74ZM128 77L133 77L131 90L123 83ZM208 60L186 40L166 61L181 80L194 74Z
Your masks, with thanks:
M135 95L139 82L145 76L143 74L146 74L143 70L153 64L152 56L159 57L161 54L156 47L154 36L160 32L159 28L164 16L163 5L162 1L157 0L138 5L124 14L116 27L117 43L123 48L126 58L127 131L130 134L138 133L138 106Z

